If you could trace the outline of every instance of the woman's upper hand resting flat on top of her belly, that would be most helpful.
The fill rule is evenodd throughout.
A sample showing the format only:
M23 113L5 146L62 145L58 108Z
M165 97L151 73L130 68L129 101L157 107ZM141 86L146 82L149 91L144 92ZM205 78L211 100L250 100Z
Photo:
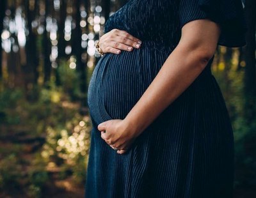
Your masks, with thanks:
M120 54L121 50L131 51L140 48L141 41L126 31L112 29L99 39L99 47L104 53Z

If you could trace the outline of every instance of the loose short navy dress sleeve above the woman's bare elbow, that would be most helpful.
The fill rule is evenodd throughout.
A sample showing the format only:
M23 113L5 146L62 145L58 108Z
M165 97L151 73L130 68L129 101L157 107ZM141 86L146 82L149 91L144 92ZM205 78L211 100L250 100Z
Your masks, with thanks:
M209 19L221 27L218 45L242 47L246 45L247 24L241 0L180 0L180 29L188 22Z

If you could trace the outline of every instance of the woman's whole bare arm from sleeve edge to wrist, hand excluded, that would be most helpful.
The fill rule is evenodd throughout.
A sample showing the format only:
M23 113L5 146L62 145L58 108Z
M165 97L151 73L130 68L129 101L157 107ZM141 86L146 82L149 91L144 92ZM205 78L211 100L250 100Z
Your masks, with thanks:
M219 36L220 27L211 20L182 27L179 44L124 119L133 135L140 135L198 77L214 55Z

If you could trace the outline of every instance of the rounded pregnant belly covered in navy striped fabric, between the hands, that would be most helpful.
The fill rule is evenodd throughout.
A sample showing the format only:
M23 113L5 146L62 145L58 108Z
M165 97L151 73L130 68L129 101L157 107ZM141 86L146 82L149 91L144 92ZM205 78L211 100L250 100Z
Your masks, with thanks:
M169 55L170 50L141 47L101 57L88 87L88 107L94 121L124 119Z

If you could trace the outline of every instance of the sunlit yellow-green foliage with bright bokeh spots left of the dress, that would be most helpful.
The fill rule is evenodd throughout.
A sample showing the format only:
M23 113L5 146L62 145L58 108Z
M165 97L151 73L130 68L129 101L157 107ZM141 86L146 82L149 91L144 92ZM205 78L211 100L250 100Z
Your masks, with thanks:
M70 120L64 129L47 128L47 142L41 154L45 162L65 165L63 171L72 171L74 181L81 183L85 179L91 126L88 117L80 119L79 123L77 118Z

